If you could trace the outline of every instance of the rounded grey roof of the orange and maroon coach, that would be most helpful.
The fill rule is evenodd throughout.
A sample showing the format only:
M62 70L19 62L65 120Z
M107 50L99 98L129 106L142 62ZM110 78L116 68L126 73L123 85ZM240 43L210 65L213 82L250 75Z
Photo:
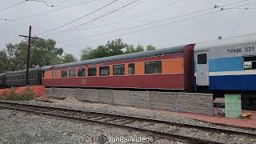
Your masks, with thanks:
M164 49L158 49L158 50L150 50L150 51L143 51L133 54L122 54L122 55L116 55L116 56L110 56L105 58L94 58L89 59L85 61L80 62L70 62L60 65L54 65L54 68L61 68L61 67L67 67L67 66L79 66L79 65L85 65L85 64L91 64L91 63L99 63L99 62L110 62L110 61L118 61L118 60L125 60L125 59L132 59L132 58L145 58L145 57L152 57L157 55L163 55L163 54L178 54L182 53L185 46L174 46Z

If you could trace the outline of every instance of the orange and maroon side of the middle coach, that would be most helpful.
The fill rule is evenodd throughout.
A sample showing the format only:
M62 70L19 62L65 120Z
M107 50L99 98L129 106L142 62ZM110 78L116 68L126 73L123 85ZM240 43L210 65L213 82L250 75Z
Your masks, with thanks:
M184 90L184 55L170 54L46 70L45 86ZM79 71L85 71L84 75Z

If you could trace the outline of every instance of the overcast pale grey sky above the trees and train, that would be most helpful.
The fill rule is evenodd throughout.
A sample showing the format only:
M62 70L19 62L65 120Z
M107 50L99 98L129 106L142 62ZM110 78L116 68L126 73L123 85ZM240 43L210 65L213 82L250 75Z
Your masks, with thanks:
M90 2L93 1L93 2ZM247 0L46 0L44 2L24 2L18 6L14 6L7 10L2 10L8 6L13 6L22 0L1 0L0 5L0 50L5 48L8 42L21 42L23 38L19 38L19 34L28 34L29 26L32 26L32 34L41 38L53 38L57 41L57 46L62 47L66 53L74 54L80 57L81 50L86 46L95 48L98 45L105 44L107 40L114 38L122 38L123 42L130 45L154 45L157 48L178 46L189 43L202 42L212 40L222 35L223 38L237 36L241 34L251 34L256 32L256 1ZM72 6L62 10L62 6L71 6L82 2L88 2L78 6ZM106 6L102 10L98 10L94 14L82 18L69 25L62 26L67 22L72 22L85 14L97 10L105 6L107 3L114 2L110 6ZM101 17L113 10L120 8L130 2L134 2L130 6L126 6L121 10L109 14L106 17ZM239 2L229 6L223 6L232 2ZM253 3L255 2L255 3ZM173 4L171 4L173 3ZM245 5L246 6L241 6ZM224 10L213 14L206 14L220 10L220 8L206 10L217 6L223 6ZM227 9L235 6L245 9ZM161 9L158 9L161 8ZM49 10L56 10L50 13L41 14ZM190 14L198 10L206 10L202 13L191 14L186 17L174 18L184 14ZM41 14L33 18L24 18L26 16ZM140 17L136 17L143 14ZM197 15L206 14L198 18L191 18ZM1 18L10 19L4 21ZM17 21L14 19L23 18ZM94 18L97 20L92 21ZM126 20L130 18L129 20ZM166 21L161 21L166 18L172 18ZM182 20L190 18L187 20ZM120 22L126 20L124 22ZM161 21L161 22L155 22ZM118 22L110 25L110 23ZM151 22L150 25L143 25ZM152 23L155 22L155 23ZM68 30L74 26L86 23L75 29ZM168 24L169 23L169 24ZM166 25L164 25L166 24ZM105 26L104 26L105 25ZM162 26L160 26L162 25ZM51 30L58 26L58 30L47 31L45 34L40 34L45 30ZM126 30L128 27L133 27ZM153 26L157 26L152 28ZM96 27L96 28L95 28ZM146 30L146 28L150 28ZM83 29L83 30L81 30ZM60 31L65 32L56 34ZM118 30L112 33L109 31ZM127 34L138 31L136 33ZM106 34L102 34L106 33ZM97 36L95 36L97 34ZM123 34L123 35L122 35ZM71 38L85 37L73 41L67 41Z

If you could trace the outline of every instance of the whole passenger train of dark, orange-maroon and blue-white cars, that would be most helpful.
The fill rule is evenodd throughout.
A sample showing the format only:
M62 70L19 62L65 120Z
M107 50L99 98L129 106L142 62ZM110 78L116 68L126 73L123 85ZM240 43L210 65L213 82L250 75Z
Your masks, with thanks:
M25 74L0 74L0 86L25 86ZM256 94L256 34L31 68L29 79L49 87Z

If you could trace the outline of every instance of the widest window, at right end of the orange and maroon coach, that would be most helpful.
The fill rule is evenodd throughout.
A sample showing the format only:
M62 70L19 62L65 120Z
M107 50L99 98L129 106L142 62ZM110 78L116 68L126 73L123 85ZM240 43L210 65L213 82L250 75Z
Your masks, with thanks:
M162 73L162 61L145 62L145 74Z

